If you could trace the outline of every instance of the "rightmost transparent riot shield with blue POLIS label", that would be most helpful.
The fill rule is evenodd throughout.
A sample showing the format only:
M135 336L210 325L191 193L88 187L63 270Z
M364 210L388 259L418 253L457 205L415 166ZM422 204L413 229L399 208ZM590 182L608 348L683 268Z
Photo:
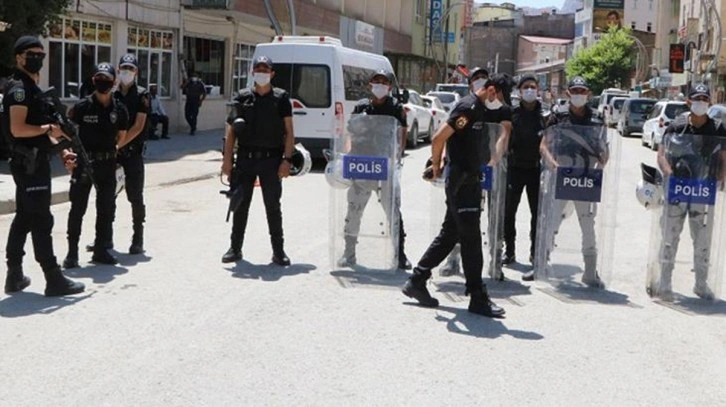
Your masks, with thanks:
M671 301L674 291L704 299L721 295L726 267L724 146L725 138L712 135L663 136L658 154L665 199L652 211L646 283L653 297ZM690 233L683 237L686 224ZM682 237L686 244L679 247Z

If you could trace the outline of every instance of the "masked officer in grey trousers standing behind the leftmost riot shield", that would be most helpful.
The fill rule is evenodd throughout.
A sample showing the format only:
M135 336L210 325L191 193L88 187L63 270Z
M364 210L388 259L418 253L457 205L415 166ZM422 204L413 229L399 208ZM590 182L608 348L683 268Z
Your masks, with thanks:
M391 85L393 84L394 77L393 73L385 69L381 69L371 76L368 83L368 89L373 94L373 97L369 99L363 99L353 109L353 114L367 114L367 115L382 115L391 116L396 118L401 127L399 128L398 139L399 139L399 157L403 155L406 149L406 132L407 132L407 121L406 111L396 99L394 99L391 93ZM339 266L353 266L356 264L355 257L355 246L357 240L355 236L358 236L360 231L360 221L363 216L365 206L370 199L370 189L365 188L359 184L353 184L348 189L348 214L346 216L346 230L345 230L345 249L343 251L343 257L338 261ZM383 199L383 202L389 202L387 199ZM404 243L406 240L406 234L403 230L403 218L401 218L401 196L400 188L396 188L396 196L393 201L395 202L395 208L392 210L398 212L398 268L402 270L410 270L411 262L408 261L406 253L404 252ZM388 211L387 211L388 212Z

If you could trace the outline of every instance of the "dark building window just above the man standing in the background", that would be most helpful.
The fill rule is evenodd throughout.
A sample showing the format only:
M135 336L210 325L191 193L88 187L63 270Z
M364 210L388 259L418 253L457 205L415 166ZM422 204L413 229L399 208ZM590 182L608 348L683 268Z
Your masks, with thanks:
M207 94L224 94L224 41L184 37L184 56L187 74L199 72Z

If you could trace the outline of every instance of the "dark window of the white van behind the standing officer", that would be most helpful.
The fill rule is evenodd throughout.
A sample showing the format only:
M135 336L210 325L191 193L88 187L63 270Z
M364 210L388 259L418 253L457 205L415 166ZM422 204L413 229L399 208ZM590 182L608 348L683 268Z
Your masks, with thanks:
M275 63L272 86L285 89L305 107L331 106L330 68L327 65Z

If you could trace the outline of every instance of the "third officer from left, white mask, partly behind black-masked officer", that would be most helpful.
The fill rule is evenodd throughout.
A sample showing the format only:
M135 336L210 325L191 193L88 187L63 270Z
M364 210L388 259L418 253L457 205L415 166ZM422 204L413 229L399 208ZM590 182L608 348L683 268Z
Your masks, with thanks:
M114 97L120 100L128 110L129 128L126 136L118 142L118 163L124 168L126 176L126 198L131 203L131 219L134 234L131 238L129 254L144 252L144 222L146 206L144 205L144 148L146 144L146 118L149 114L149 94L136 85L138 63L134 54L126 54L119 62L120 81ZM110 246L111 243L107 245Z

